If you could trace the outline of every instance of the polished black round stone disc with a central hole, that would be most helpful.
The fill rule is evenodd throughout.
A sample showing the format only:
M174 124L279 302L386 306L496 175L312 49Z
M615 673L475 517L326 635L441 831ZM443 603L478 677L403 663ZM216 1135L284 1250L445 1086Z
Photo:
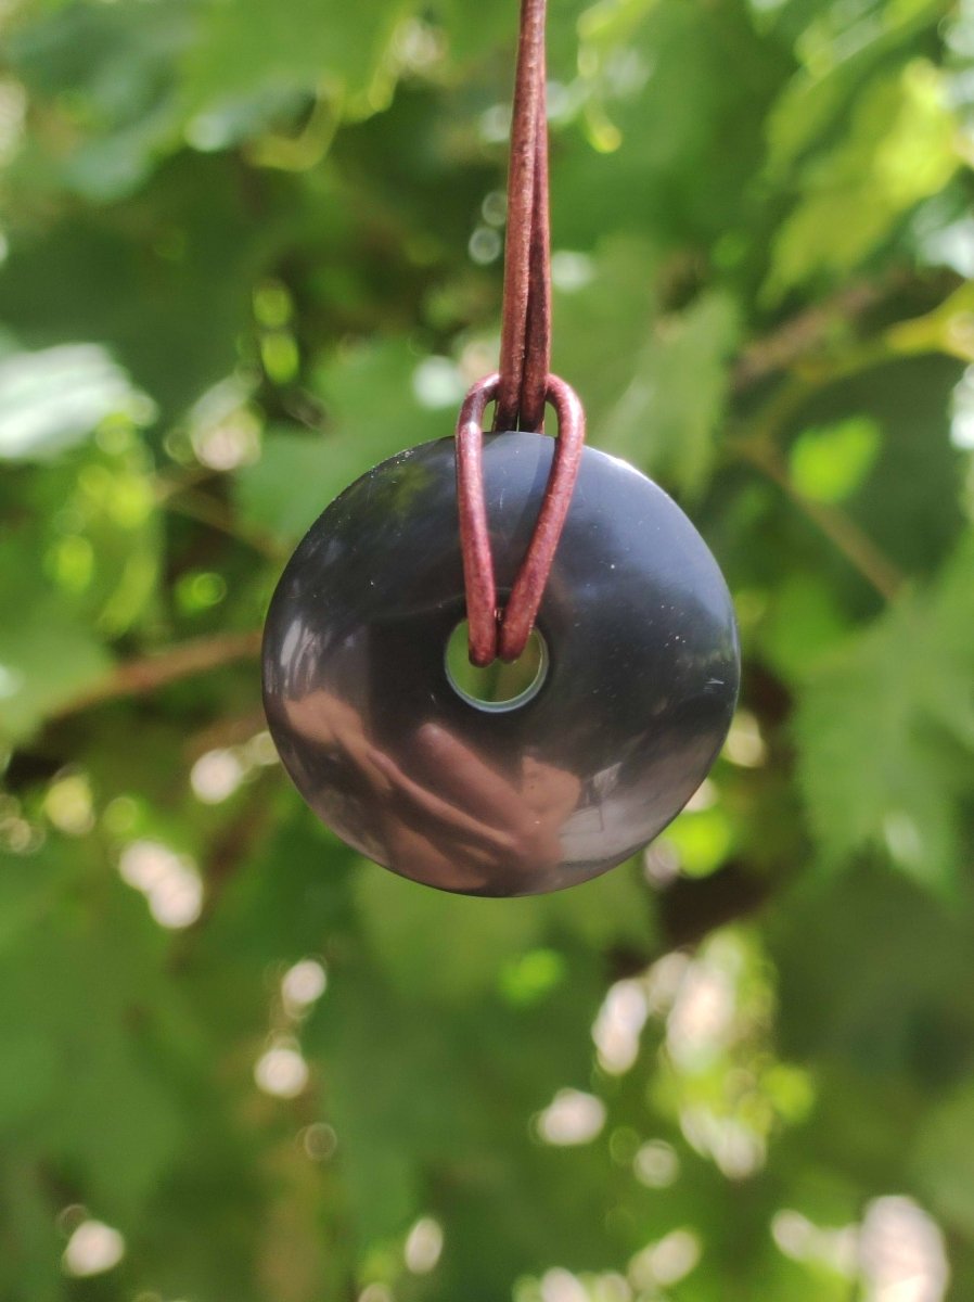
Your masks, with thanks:
M307 803L369 858L466 894L557 891L645 846L707 773L737 698L730 596L680 508L586 448L538 616L544 682L470 704L444 667L465 617L453 449L392 457L311 526L267 620L267 719ZM552 450L484 439L501 594Z

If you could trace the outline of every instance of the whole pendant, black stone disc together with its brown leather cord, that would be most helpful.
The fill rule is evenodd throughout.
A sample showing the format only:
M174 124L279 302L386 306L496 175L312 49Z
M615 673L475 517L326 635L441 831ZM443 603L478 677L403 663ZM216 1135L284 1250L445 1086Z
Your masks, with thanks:
M522 0L499 374L456 439L383 462L313 525L263 651L271 733L311 809L465 894L557 891L629 858L698 788L737 699L720 570L660 488L583 447L581 402L548 374L550 306L544 0ZM491 402L522 431L551 404L557 440L484 437Z

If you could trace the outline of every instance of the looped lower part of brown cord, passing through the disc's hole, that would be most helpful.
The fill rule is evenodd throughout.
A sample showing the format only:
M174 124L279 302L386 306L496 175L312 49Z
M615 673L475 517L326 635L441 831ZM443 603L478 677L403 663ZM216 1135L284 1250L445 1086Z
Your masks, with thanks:
M531 635L544 596L555 549L572 505L572 492L585 445L585 411L576 391L550 375L547 401L559 421L548 484L531 542L510 590L503 616L497 616L497 586L483 497L483 414L496 400L500 375L478 380L464 400L457 422L457 501L460 543L464 553L466 617L470 659L477 665L517 660Z

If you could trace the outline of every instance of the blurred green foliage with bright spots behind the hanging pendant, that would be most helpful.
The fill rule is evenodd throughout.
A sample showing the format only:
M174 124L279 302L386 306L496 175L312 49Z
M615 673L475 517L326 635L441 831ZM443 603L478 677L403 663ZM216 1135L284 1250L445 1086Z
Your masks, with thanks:
M513 0L3 0L0 1295L974 1298L974 5L553 0L555 368L741 708L639 861L303 809L289 549L497 355Z

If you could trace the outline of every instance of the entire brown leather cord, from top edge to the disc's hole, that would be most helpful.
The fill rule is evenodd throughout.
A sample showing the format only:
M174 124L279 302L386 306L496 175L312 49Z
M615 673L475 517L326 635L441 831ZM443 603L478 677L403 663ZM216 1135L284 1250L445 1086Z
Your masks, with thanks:
M473 385L457 421L457 503L469 625L477 665L517 660L531 635L572 504L585 443L585 411L574 389L548 374L551 359L551 251L548 124L544 105L546 0L522 0L514 111L510 126L508 230L500 371ZM483 496L483 415L495 402L494 428L536 430L551 402L559 435L548 483L507 607L497 589Z

